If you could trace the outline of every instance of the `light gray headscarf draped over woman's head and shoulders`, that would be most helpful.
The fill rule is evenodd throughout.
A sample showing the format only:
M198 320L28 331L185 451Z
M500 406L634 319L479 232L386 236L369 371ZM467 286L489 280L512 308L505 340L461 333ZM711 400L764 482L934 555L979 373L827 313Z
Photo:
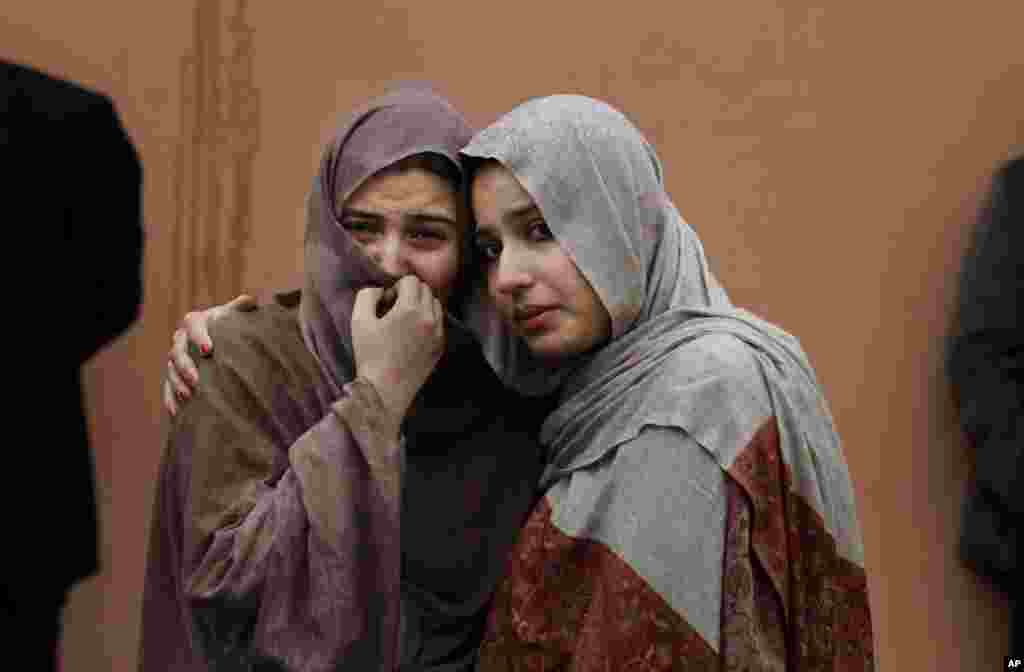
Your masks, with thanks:
M794 336L729 301L637 128L599 100L553 95L519 106L462 153L515 175L611 317L611 340L596 353L546 367L501 324L483 288L467 312L506 384L530 394L559 389L542 429L542 486L647 425L683 429L729 470L760 414L744 407L748 390L767 386L793 489L821 515L839 554L862 566L849 470L807 355ZM709 352L701 339L722 334L753 351L759 377L738 375L728 351Z

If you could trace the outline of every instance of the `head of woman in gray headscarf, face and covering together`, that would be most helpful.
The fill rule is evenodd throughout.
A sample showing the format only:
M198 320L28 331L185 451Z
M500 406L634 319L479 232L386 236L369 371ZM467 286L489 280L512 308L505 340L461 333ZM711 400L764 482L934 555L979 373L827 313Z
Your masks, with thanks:
M463 155L487 295L531 355L588 352L668 307L654 259L660 165L622 113L580 95L537 98Z

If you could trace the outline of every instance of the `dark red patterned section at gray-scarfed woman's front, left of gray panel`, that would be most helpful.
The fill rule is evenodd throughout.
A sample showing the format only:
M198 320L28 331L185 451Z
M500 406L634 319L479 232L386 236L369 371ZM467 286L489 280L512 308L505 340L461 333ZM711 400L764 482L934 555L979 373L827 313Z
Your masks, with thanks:
M542 499L499 587L481 672L719 670L719 658L607 546L566 536Z

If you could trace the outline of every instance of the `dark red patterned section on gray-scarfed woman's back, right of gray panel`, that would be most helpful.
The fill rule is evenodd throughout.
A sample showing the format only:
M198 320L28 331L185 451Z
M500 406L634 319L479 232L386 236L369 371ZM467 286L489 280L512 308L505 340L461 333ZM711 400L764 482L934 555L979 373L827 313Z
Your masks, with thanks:
M873 670L864 569L838 554L780 456L772 418L729 469L725 669Z

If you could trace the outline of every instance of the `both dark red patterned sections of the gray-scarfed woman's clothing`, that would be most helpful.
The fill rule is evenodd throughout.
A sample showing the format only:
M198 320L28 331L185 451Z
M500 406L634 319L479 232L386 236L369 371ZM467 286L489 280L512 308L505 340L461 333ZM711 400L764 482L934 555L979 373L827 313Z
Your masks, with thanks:
M495 596L479 670L873 670L864 570L790 490L778 442L769 420L729 470L720 653L607 546L558 530L545 498Z

